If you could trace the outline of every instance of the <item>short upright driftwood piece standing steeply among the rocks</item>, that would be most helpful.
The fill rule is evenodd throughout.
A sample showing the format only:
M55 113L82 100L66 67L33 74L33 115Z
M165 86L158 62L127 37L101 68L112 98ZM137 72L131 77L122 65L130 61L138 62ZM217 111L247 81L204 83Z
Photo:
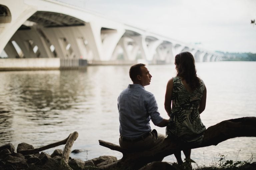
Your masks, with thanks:
M72 170L72 168L70 168L70 166L68 165L68 159L71 153L71 147L74 141L77 139L77 137L78 137L78 133L76 131L69 135L67 143L63 150L63 154L61 156L61 166L66 167L69 170Z

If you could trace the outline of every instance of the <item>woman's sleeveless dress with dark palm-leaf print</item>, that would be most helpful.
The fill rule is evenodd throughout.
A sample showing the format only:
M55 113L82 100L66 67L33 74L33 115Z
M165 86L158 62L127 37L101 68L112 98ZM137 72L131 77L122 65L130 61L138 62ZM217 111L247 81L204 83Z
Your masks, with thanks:
M201 143L206 130L199 115L199 104L204 93L204 82L189 93L179 77L173 78L172 110L166 127L167 137L183 142Z

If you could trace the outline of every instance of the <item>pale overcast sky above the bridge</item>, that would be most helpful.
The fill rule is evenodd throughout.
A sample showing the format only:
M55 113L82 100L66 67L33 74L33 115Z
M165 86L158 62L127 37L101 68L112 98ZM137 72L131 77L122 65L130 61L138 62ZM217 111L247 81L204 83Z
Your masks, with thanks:
M58 0L211 51L256 53L256 0Z

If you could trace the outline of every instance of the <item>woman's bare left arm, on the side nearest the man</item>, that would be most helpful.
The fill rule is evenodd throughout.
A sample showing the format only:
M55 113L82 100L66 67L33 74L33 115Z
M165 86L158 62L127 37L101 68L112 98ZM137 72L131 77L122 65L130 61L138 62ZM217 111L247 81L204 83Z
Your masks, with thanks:
M165 92L165 101L164 101L164 108L170 117L171 114L171 106L172 106L172 89L173 89L173 79L171 78L166 86L166 92Z

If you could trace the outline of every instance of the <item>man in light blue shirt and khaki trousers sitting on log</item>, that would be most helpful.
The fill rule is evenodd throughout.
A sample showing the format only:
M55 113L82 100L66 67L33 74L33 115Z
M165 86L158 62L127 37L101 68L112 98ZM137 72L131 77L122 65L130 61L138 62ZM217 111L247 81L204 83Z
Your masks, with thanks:
M168 120L160 116L154 95L144 88L152 77L145 64L132 65L129 75L133 84L129 84L118 97L119 144L124 149L145 150L165 138L155 129L151 131L150 120L158 127L167 126Z

